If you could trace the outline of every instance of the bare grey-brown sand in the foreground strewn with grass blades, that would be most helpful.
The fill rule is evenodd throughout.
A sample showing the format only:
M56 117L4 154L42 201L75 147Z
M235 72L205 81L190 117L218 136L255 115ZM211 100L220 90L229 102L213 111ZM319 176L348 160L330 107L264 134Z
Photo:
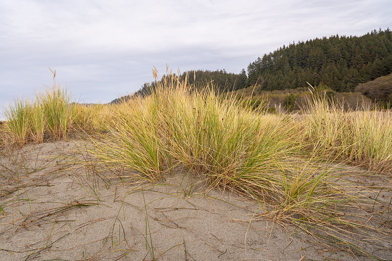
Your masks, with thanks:
M88 157L76 152L80 142L1 156L0 260L367 260L258 219L259 204L189 171L131 184L121 171L75 164Z

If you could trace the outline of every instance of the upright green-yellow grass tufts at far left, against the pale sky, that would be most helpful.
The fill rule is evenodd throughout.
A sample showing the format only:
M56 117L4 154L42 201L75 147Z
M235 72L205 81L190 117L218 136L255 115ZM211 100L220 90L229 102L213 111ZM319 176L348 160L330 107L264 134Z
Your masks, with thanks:
M66 139L71 130L100 129L103 105L83 106L71 103L71 95L53 85L36 95L34 101L15 99L5 110L3 141L23 146L27 142L41 143L47 139Z

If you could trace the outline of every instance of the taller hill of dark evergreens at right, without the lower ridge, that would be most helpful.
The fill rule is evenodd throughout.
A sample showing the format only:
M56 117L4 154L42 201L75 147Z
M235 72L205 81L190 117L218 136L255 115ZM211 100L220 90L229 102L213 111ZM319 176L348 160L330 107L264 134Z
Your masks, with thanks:
M290 44L265 54L247 67L247 86L261 90L298 88L306 82L338 92L392 72L392 33L373 30L357 36L331 36Z

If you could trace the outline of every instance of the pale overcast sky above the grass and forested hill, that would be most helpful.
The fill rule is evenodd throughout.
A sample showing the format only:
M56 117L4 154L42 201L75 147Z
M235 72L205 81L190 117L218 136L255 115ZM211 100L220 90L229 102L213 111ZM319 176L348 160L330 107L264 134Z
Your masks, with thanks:
M56 80L110 102L173 71L238 73L293 42L392 28L391 0L0 0L0 107Z

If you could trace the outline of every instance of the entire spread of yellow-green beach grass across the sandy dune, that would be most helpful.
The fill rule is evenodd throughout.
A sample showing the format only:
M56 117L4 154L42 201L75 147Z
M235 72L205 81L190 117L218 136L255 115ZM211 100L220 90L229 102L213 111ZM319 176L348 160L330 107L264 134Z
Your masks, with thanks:
M210 187L257 201L262 211L255 218L294 225L294 231L344 242L350 251L377 259L358 250L356 238L377 244L392 233L391 202L369 197L383 189L356 184L352 171L337 165L390 176L391 111L347 111L315 96L299 115L271 114L174 74L156 83L151 95L114 105L72 103L59 86L34 102L14 100L5 111L3 143L22 147L95 130L84 150L102 173L121 169L129 180L154 183L176 167L192 170Z

